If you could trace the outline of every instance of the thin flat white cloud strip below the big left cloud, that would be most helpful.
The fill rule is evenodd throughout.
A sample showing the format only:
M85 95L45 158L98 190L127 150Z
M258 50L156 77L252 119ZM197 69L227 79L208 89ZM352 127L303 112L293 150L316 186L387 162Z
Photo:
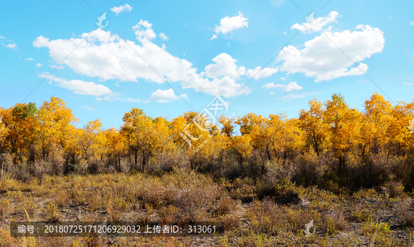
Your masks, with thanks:
M66 88L68 90L72 90L77 95L94 95L94 96L101 96L101 95L108 95L112 91L103 86L101 84L97 84L91 81L81 81L81 80L66 80L57 78L53 75L49 75L47 73L42 73L39 77L48 78L51 81L57 82L55 85L59 86L60 88Z

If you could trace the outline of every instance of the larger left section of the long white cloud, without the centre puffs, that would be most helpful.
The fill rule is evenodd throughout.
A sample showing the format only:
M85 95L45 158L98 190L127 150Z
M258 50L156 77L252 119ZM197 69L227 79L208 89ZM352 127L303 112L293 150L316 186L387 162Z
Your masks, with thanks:
M159 47L150 39L156 37L147 21L140 21L135 26L137 39L141 46L133 41L123 41L118 35L97 29L83 41L67 59L65 57L74 50L82 39L49 39L41 36L33 42L35 47L49 48L49 54L53 61L68 66L75 72L89 77L99 77L101 80L118 79L120 81L137 81L138 78L146 81L164 83L166 81L180 81L186 76L192 63L185 59L179 59L170 55L165 47ZM147 28L146 28L147 27ZM82 34L86 37L88 33ZM148 64L137 55L134 49ZM87 56L86 56L87 55ZM60 66L59 66L60 67Z

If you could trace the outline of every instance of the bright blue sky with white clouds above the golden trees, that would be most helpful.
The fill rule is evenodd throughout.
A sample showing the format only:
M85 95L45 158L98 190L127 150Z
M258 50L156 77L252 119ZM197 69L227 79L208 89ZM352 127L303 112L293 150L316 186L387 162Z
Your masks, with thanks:
M297 117L312 97L338 92L359 109L373 92L412 101L413 9L413 1L6 1L0 106L55 95L79 126L99 118L119 128L133 107L173 119L217 95L233 117ZM99 28L104 12L108 26Z

